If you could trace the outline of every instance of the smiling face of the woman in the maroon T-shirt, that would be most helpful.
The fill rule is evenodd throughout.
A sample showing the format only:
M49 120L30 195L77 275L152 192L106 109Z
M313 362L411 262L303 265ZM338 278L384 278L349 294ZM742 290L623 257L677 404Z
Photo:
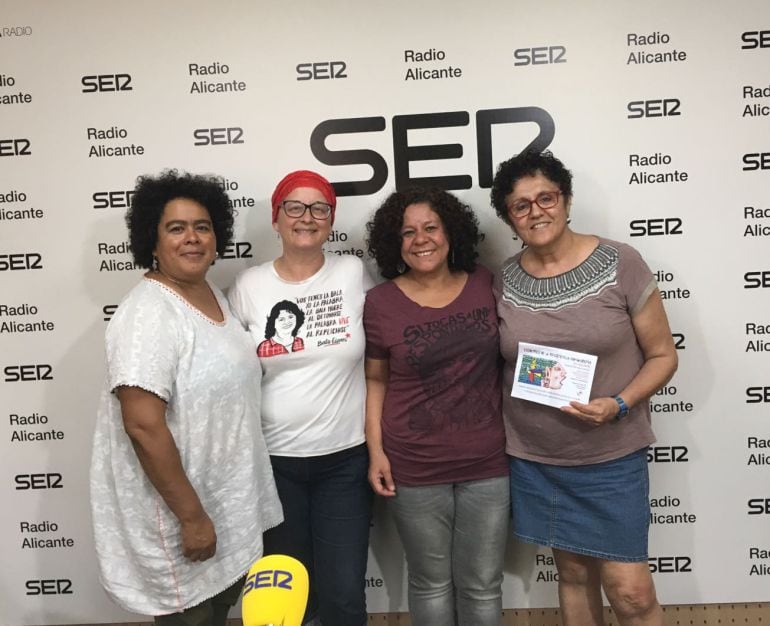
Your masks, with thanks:
M401 226L401 258L413 272L449 271L449 240L441 218L427 202L410 204Z

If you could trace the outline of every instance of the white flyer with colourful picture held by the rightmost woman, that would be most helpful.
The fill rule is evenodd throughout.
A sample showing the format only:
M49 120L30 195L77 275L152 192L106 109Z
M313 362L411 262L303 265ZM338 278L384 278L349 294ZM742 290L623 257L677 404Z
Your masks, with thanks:
M555 408L573 400L588 403L597 357L519 342L511 396Z

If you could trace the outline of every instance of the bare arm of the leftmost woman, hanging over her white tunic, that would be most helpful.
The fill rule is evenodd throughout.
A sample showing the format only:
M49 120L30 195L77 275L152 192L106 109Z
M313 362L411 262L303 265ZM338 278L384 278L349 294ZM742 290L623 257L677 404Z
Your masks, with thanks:
M179 449L166 424L166 403L139 387L118 387L123 427L147 478L182 527L182 549L191 561L216 553L214 524L182 466Z

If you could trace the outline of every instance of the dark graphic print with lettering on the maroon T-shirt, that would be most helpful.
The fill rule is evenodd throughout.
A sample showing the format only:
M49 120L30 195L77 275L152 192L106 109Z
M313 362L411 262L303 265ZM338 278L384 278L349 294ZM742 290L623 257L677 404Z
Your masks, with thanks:
M473 367L474 355L497 360L490 310L476 308L404 329L407 362L422 382L426 401L409 415L409 429L465 430L494 415L494 380ZM492 363L494 369L495 363Z

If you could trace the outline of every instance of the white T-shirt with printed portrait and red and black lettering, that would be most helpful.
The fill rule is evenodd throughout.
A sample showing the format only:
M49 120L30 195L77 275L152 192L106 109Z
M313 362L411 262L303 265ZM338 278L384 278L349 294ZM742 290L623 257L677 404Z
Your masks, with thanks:
M364 264L326 254L310 278L283 280L273 262L241 272L228 293L262 363L262 429L270 454L331 454L364 441ZM288 300L304 320L293 345L266 337L273 308ZM269 333L267 333L269 334Z

